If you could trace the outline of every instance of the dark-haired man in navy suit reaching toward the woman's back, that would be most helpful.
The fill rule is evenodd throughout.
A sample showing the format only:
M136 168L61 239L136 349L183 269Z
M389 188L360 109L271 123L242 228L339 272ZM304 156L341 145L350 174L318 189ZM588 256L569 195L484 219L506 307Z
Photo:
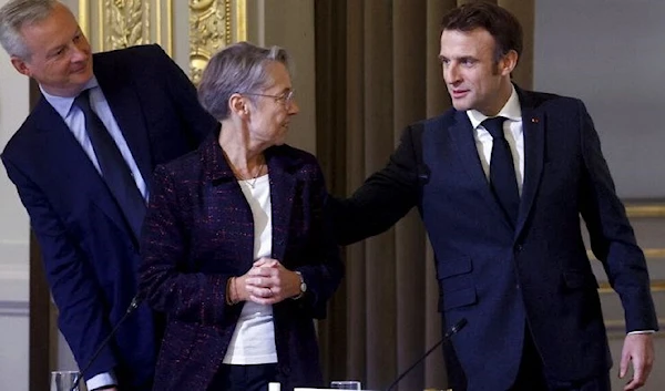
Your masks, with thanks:
M657 328L642 250L584 104L511 83L522 29L473 2L443 18L440 61L453 107L408 126L388 165L332 202L344 243L417 206L436 255L453 390L610 390L597 282L581 234L624 310L620 375L646 381ZM494 120L493 120L494 119Z

